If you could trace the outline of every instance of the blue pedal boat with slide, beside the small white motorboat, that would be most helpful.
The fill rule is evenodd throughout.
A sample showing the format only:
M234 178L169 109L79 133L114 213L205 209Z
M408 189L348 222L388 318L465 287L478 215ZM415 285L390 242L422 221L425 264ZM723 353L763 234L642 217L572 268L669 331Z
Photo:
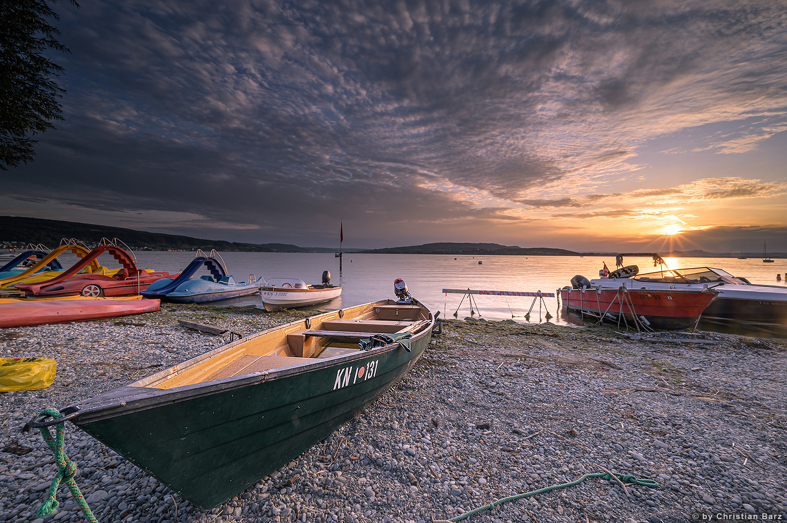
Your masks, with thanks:
M216 257L219 259L216 260ZM203 266L207 267L210 274L193 278L194 273ZM210 256L207 256L205 252L198 251L194 260L177 278L161 278L143 290L142 295L183 304L205 304L256 294L263 283L262 277L255 279L253 274L249 275L246 282L236 282L235 278L227 275L224 260L218 253L211 251Z

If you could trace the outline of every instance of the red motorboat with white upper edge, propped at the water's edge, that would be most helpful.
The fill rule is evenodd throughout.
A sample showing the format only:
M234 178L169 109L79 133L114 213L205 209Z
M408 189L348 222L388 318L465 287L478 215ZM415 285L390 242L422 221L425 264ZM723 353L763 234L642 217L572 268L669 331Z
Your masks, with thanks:
M560 289L560 300L569 311L635 326L681 330L694 326L718 292L714 289L626 289L591 285L582 276L571 278L571 287Z

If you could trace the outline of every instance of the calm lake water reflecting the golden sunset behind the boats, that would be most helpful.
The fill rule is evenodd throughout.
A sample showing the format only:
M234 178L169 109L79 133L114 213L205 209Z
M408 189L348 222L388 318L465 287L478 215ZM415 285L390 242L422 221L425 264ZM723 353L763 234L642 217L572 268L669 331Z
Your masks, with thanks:
M137 252L140 267L181 271L194 258L194 252ZM446 256L413 254L345 254L342 272L338 258L333 253L295 252L222 252L229 274L238 281L249 274L266 280L275 277L301 278L306 283L320 283L323 271L331 271L331 283L344 287L342 296L328 304L318 305L320 310L345 308L383 298L393 298L393 280L403 278L410 293L432 311L452 318L459 308L458 317L470 316L467 298L442 293L442 289L486 289L505 291L555 293L556 289L570 285L571 277L582 274L586 278L598 277L602 263L615 269L614 256ZM108 267L115 267L112 259L102 260ZM478 262L482 262L479 264ZM640 272L655 271L650 258L627 257L626 265L636 264ZM737 260L730 258L667 258L670 267L717 267L749 282L764 285L785 285L776 281L787 272L787 260L763 263L760 258ZM66 266L67 267L67 266ZM203 268L197 275L207 274ZM523 316L533 304L532 297L479 296L475 300L475 316L484 319L511 319L524 322ZM247 296L222 303L249 305L260 304L259 296ZM534 304L530 321L539 321L539 302ZM261 304L260 304L261 307ZM565 316L557 310L554 297L544 298L541 304L541 321L546 310L554 317L550 321L575 323L573 315Z

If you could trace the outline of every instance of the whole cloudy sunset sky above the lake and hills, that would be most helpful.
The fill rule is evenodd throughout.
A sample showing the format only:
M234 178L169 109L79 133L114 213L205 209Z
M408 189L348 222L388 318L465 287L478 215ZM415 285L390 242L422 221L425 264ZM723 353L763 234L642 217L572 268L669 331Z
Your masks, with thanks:
M55 6L2 214L390 247L787 250L783 0Z

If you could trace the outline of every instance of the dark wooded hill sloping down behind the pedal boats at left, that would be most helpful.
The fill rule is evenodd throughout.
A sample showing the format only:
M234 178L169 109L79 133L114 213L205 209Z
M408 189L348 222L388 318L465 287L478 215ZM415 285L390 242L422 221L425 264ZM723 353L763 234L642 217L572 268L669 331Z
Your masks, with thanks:
M222 252L315 252L297 245L283 243L238 243L235 241L205 240L175 234L149 233L122 227L105 227L91 223L65 222L56 219L0 216L0 243L17 241L20 244L42 244L50 249L60 245L61 238L74 238L87 245L96 245L102 238L118 238L134 250L216 249ZM333 249L321 249L333 252Z

